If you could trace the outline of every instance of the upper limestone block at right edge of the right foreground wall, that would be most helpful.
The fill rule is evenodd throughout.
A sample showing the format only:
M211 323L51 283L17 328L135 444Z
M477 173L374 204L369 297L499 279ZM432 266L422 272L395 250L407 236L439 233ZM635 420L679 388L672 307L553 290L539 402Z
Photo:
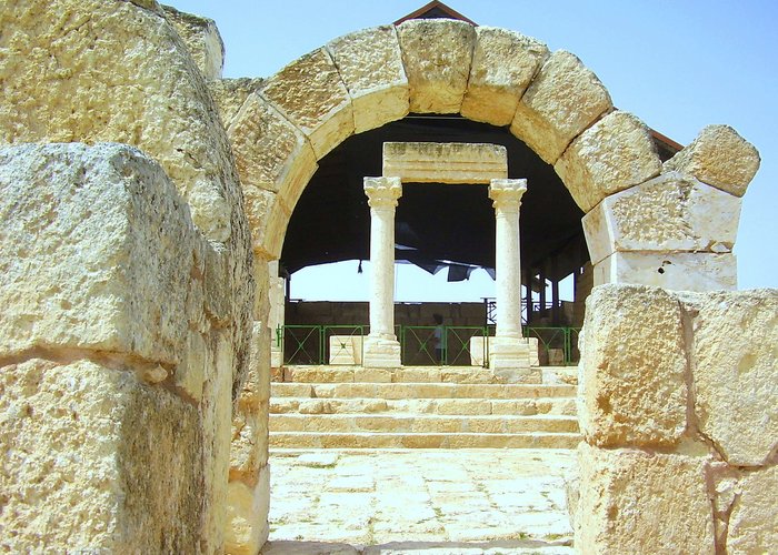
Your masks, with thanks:
M695 412L700 431L736 465L778 446L778 291L685 295L694 316Z

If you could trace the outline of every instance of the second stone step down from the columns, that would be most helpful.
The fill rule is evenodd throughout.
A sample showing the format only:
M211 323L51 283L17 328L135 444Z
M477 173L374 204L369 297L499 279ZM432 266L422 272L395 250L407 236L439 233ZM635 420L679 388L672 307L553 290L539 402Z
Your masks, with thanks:
M462 383L278 383L271 397L317 398L548 398L575 397L568 384L462 384Z

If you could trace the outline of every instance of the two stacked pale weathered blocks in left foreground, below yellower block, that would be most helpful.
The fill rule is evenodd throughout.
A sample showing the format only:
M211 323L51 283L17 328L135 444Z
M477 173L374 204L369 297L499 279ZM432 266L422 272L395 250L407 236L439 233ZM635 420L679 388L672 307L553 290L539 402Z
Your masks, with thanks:
M216 551L232 342L212 245L120 144L0 149L0 544Z

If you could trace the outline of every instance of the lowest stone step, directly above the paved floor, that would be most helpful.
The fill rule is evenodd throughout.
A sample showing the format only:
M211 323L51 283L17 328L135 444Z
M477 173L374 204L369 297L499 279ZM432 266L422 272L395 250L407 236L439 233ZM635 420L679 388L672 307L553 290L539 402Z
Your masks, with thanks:
M313 433L270 432L278 448L575 448L578 433Z

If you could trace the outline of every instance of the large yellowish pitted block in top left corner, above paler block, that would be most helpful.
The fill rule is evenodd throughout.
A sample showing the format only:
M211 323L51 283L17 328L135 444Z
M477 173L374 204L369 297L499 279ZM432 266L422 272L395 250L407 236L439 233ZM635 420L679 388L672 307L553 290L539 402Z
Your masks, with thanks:
M0 10L0 143L136 145L164 168L198 228L227 241L245 225L229 144L202 74L160 14L98 0Z

